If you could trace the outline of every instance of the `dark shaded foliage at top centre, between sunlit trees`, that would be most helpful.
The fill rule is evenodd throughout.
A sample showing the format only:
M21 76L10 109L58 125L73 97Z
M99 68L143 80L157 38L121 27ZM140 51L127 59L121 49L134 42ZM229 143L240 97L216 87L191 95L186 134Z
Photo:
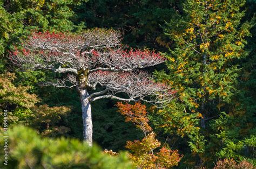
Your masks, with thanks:
M160 25L173 18L181 2L92 0L75 11L87 27L113 27L122 31L125 44L159 48L168 43Z

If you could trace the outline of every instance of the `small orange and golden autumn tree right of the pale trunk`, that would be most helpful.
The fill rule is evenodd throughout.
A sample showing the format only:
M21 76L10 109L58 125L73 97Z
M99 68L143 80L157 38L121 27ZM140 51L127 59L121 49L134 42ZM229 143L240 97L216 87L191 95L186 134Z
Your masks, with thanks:
M182 156L178 150L171 150L166 146L160 148L161 143L156 139L147 118L146 106L137 102L135 104L117 103L119 112L125 116L126 122L132 122L144 132L142 140L127 141L126 148L131 151L129 157L133 163L142 168L172 167L178 165Z

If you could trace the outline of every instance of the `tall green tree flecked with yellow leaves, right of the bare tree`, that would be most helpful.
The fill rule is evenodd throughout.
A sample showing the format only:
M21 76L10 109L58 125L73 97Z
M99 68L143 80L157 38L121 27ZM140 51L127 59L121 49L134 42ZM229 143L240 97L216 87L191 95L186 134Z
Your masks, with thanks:
M177 102L172 102L166 110L183 111L184 116L190 118L187 124L190 128L177 132L179 135L186 132L190 137L192 152L199 154L201 164L207 160L203 155L205 136L210 132L207 122L219 117L221 111L228 112L224 105L230 103L237 92L239 67L235 61L246 57L245 37L250 36L252 27L248 22L240 24L245 15L245 11L240 10L244 4L245 1L188 0L183 5L184 13L171 20L165 29L166 35L173 39L173 50L167 62L169 73L157 75L179 91ZM197 125L192 123L192 114L197 114L193 118L201 119L205 136L191 136L188 132ZM177 121L176 116L167 113L163 118L164 122ZM171 131L173 126L165 125L165 128Z

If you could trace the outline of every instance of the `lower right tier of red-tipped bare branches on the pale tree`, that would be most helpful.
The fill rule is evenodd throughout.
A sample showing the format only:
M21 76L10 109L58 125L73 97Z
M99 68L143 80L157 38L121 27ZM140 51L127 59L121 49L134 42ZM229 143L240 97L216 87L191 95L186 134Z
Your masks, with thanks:
M98 71L89 75L88 82L98 83L106 87L103 91L91 94L91 97L105 93L112 96L118 93L126 93L133 101L141 99L151 103L163 103L170 101L175 93L163 83L154 82L152 77L143 71L122 73ZM149 100L146 100L146 97Z

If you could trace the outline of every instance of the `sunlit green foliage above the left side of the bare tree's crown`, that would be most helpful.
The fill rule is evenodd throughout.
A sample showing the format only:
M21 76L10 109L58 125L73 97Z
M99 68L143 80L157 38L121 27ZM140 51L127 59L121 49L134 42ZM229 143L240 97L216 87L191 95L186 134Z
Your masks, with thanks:
M6 1L4 8L9 13L19 14L25 30L39 29L41 31L74 31L81 30L84 23L75 25L72 19L76 17L72 10L86 0L78 1Z

